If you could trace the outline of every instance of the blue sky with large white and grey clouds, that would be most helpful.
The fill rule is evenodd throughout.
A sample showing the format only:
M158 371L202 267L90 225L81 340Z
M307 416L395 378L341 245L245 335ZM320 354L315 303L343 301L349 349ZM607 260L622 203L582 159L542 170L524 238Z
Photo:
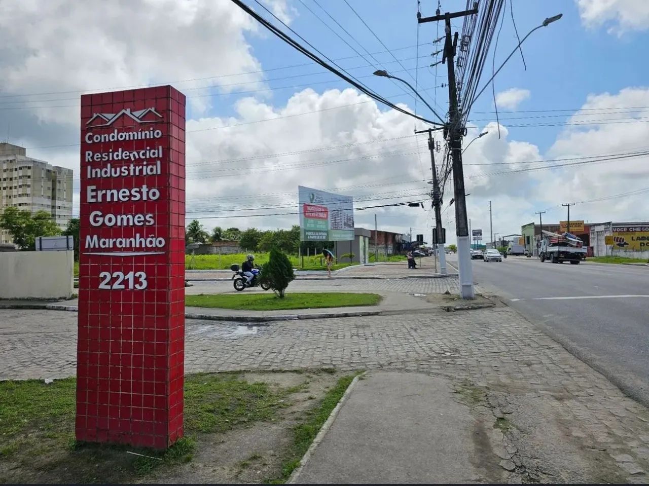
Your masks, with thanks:
M447 112L442 26L417 26L417 1L245 0L393 103L432 117L387 69ZM1 0L0 138L79 169L79 96L172 84L188 96L188 219L214 226L296 224L297 186L354 196L356 208L426 199L431 177L416 121L362 95L269 34L230 0ZM354 10L352 10L352 8ZM423 16L437 1L421 0ZM441 1L442 11L464 0ZM520 36L539 29L472 106L464 154L472 228L515 234L536 221L646 221L649 1L512 0L480 86ZM358 14L358 15L357 15ZM454 22L461 29L461 21ZM297 38L294 32L289 32ZM303 42L304 41L300 41ZM495 60L492 58L495 53ZM500 135L496 123L498 108ZM443 141L442 149L443 149ZM440 152L439 156L441 157ZM596 160L595 158L600 158ZM596 160L596 163L593 162ZM566 165L569 164L569 165ZM554 167L560 165L560 167ZM78 173L77 187L78 187ZM77 189L78 190L78 189ZM452 180L443 223L454 239ZM75 208L78 208L75 194ZM356 225L424 233L424 209L357 210ZM488 237L488 236L487 236Z

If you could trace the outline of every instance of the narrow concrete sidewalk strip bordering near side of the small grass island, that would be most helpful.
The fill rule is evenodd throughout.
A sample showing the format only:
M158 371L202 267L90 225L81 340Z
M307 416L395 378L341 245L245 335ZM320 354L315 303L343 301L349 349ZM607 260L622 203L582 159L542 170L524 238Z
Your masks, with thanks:
M435 306L423 298L413 297L400 292L381 292L383 299L376 306L335 307L316 309L291 309L249 311L204 307L186 307L187 319L206 321L265 322L291 321L294 319L326 319L333 317L361 317L369 315L392 315L413 312L425 312ZM0 300L0 309L46 309L60 311L77 311L78 299L70 300Z

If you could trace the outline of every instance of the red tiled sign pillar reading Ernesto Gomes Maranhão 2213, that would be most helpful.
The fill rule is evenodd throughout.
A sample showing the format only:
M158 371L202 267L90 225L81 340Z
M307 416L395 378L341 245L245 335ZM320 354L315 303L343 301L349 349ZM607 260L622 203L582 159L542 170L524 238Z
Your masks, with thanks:
M80 441L182 437L185 97L81 97Z

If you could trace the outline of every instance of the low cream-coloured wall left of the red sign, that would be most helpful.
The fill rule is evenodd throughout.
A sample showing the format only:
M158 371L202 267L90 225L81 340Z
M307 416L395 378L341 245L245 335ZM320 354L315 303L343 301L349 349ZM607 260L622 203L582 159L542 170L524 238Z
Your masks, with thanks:
M0 298L69 298L74 252L2 252Z

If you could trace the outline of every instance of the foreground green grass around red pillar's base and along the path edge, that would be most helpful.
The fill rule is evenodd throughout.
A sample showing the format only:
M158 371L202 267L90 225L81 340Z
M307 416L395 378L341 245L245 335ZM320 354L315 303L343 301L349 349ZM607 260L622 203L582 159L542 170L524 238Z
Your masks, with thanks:
M295 442L288 450L278 451L285 463L267 482L286 480L352 378L341 377L299 418ZM267 383L272 381L271 375L262 382L248 382L236 372L186 376L185 437L165 451L77 443L74 378L49 384L0 381L0 483L147 483L155 468L173 470L193 461L202 434L222 434L256 422L281 422L282 409L291 406L294 394L308 382L278 389ZM127 450L149 457L126 454Z

